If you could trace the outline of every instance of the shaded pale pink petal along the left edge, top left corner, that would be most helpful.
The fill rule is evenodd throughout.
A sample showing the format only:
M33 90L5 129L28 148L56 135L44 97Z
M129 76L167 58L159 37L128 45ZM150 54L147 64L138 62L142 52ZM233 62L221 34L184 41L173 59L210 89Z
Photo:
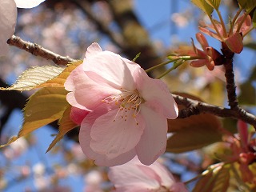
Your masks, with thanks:
M8 51L7 40L14 34L17 19L17 8L13 0L1 0L0 4L0 56Z

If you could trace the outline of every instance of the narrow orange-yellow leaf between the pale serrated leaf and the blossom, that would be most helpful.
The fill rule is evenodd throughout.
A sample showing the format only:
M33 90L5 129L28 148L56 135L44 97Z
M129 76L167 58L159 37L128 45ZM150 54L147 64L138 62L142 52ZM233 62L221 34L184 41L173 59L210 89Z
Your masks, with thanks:
M36 86L36 88L54 86L54 87L63 87L66 78L70 75L71 71L74 70L77 66L81 65L82 61L73 62L69 64L65 70L62 71L56 78L50 79L47 82L42 83L41 85Z

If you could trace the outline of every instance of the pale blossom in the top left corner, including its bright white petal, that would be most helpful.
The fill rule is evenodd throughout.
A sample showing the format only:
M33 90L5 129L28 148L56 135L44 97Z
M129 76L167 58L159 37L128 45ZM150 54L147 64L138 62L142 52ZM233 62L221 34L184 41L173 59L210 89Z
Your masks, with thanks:
M14 34L17 7L19 8L32 8L38 6L45 0L1 0L0 3L0 56L7 53L8 45L7 40Z

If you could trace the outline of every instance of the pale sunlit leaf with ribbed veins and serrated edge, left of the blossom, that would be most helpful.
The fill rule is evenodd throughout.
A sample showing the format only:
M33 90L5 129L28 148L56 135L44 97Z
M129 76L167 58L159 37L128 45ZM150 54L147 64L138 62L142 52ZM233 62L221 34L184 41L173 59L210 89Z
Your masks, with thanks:
M55 78L62 73L65 68L59 66L35 66L25 70L14 83L14 85L7 88L0 88L1 90L32 90L38 85Z

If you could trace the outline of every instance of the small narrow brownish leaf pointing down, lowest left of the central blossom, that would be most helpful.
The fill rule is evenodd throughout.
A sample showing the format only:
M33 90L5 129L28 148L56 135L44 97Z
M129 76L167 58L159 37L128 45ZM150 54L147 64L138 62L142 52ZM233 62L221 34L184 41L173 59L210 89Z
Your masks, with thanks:
M56 145L56 143L59 142L64 137L64 135L67 132L69 132L70 130L73 130L76 126L78 126L76 123L74 123L70 119L70 110L71 110L71 106L69 105L64 111L62 118L58 122L59 124L58 134L54 138L54 141L50 143L50 146L46 152L50 151Z

